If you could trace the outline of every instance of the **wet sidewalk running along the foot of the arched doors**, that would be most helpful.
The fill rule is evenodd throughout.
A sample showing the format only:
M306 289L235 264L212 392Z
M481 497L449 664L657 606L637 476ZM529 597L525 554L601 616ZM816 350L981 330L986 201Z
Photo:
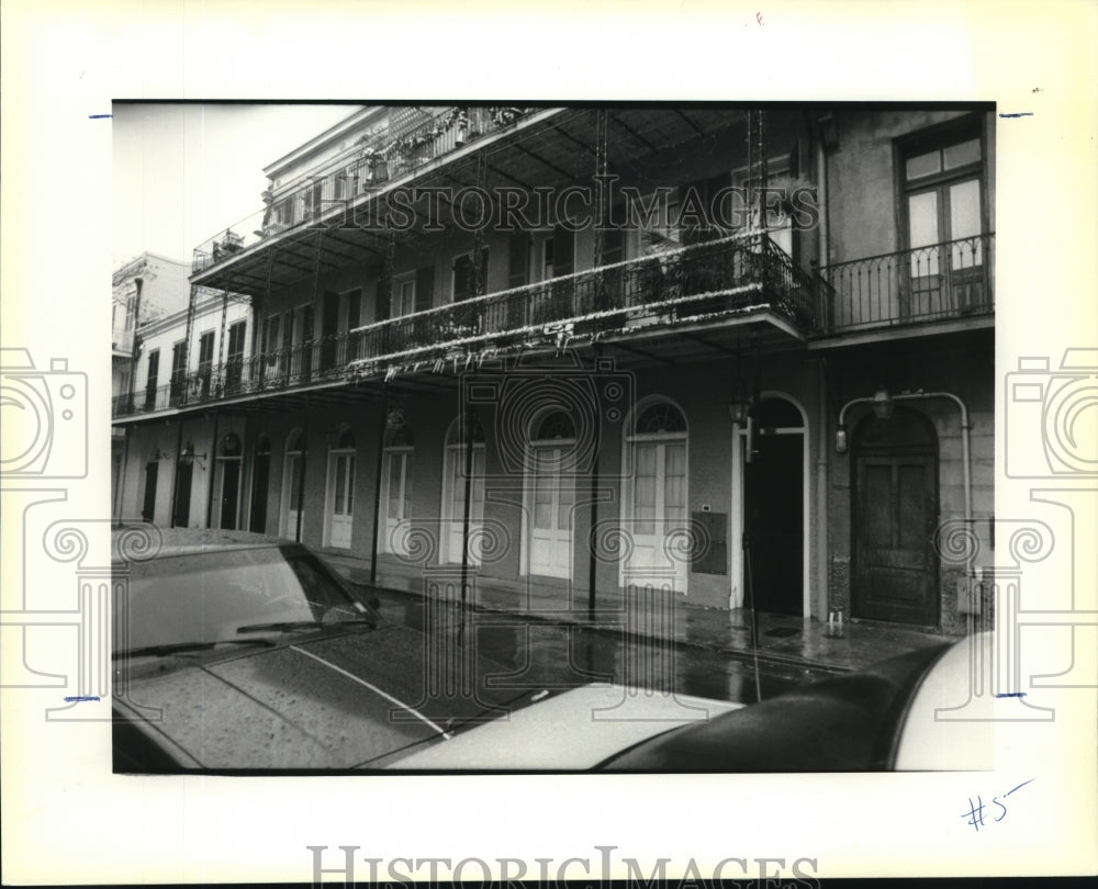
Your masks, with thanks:
M369 586L369 563L354 555L321 551L323 558L340 574L357 584ZM388 592L379 586L379 593ZM403 589L392 593L416 596ZM494 589L483 583L478 586L474 608L523 615L535 620L557 623L575 623L606 632L623 629L636 637L652 641L674 642L716 651L721 654L752 657L751 611L746 608L725 610L675 601L674 615L658 614L650 599L635 601L627 610L600 606L592 616L584 609L567 609L559 599L524 594L519 605L513 592ZM786 615L759 615L758 656L772 663L786 663L830 671L858 671L870 664L928 648L943 642L956 642L949 635L907 629L877 622L844 620L828 624Z

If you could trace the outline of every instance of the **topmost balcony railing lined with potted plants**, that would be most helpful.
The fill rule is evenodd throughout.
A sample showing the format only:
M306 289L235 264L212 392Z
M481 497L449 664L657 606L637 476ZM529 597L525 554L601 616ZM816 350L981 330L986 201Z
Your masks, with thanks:
M273 200L194 248L191 273L198 273L265 238L318 218L385 182L417 170L469 142L527 116L528 108L450 108L422 123L384 131L361 140L354 154L307 177L291 194Z

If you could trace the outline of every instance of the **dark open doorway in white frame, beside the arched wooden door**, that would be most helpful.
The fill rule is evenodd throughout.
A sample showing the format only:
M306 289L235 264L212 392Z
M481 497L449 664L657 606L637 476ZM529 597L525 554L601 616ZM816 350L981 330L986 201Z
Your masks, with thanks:
M764 397L753 448L743 466L744 584L751 584L759 610L799 617L805 612L805 428L797 406Z

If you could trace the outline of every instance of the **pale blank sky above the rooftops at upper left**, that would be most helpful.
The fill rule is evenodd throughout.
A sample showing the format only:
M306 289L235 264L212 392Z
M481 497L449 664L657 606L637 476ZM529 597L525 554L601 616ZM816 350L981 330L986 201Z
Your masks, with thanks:
M148 250L190 262L262 209L262 168L358 105L115 103L112 268Z

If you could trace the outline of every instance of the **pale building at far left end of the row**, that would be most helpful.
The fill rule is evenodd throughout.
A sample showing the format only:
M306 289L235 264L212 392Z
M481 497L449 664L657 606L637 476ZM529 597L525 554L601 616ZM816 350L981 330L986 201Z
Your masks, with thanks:
M187 307L190 268L157 254L145 252L117 269L111 280L111 397L116 404L130 393L134 333L141 325ZM138 335L139 342L139 335ZM111 513L119 514L125 430L111 430Z

